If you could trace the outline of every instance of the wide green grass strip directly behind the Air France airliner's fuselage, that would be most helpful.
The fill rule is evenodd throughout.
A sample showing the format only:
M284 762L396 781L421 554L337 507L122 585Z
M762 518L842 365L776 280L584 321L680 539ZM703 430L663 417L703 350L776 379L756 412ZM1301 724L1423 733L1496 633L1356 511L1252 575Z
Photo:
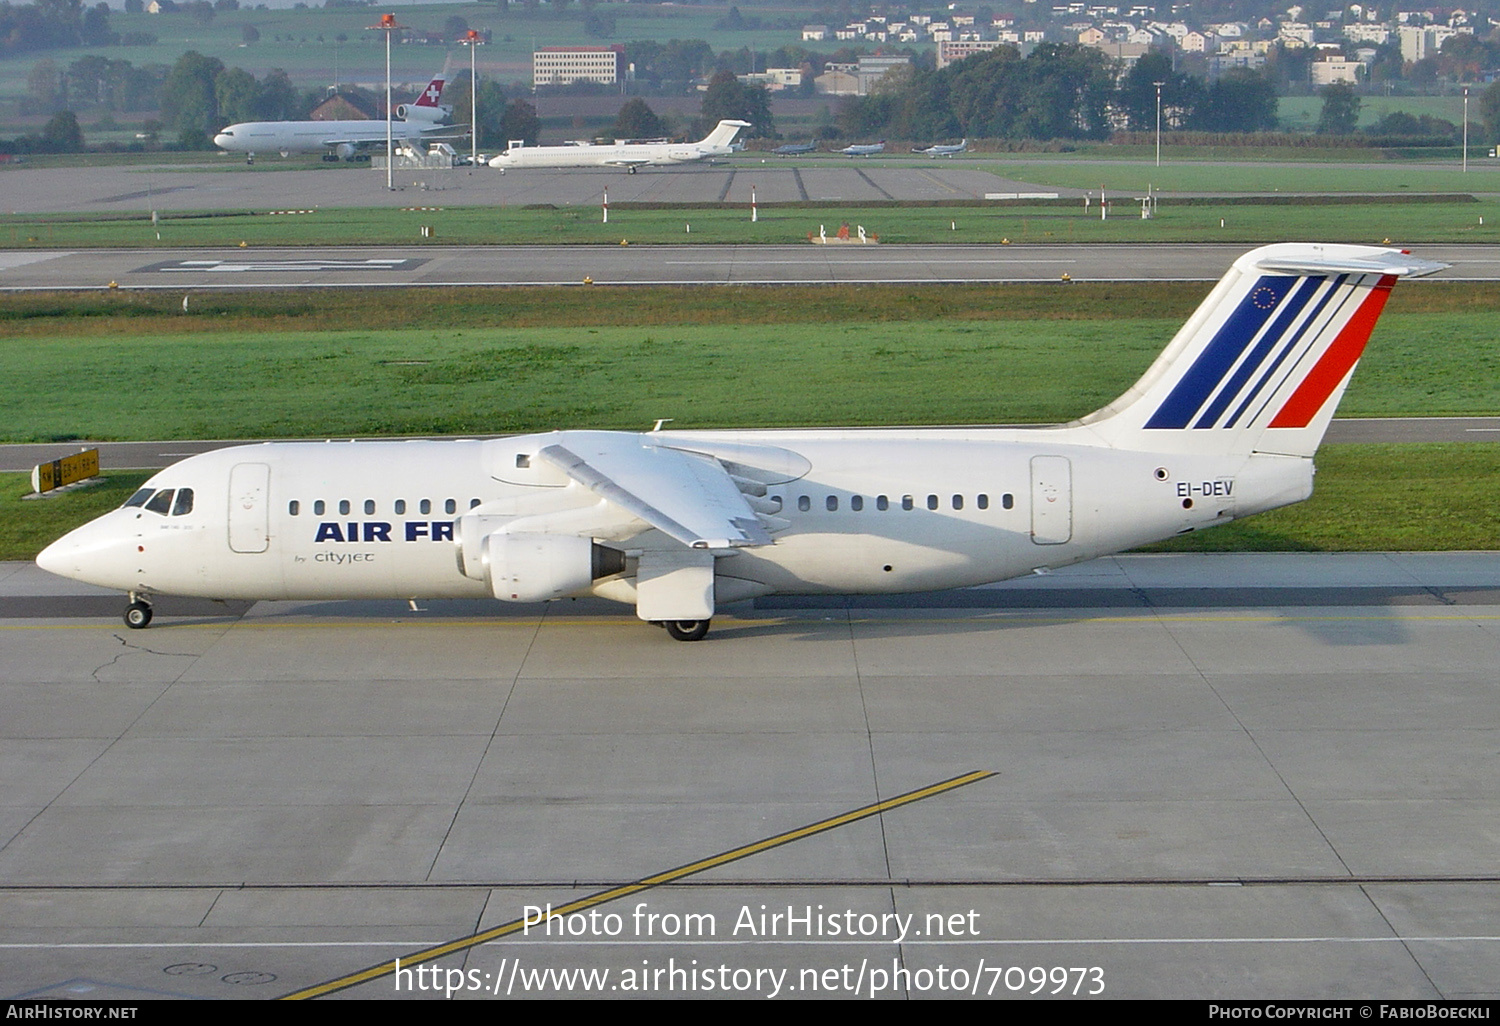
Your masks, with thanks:
M105 294L88 318L66 297L24 297L0 318L0 430L46 441L636 429L658 417L1058 422L1124 392L1204 291L423 290L374 308L340 292L280 309L279 297L206 296L189 315L170 312L176 297ZM1402 312L1440 291L1456 309ZM1500 292L1395 296L1341 412L1500 412ZM382 309L410 314L386 321ZM386 327L339 327L354 320Z

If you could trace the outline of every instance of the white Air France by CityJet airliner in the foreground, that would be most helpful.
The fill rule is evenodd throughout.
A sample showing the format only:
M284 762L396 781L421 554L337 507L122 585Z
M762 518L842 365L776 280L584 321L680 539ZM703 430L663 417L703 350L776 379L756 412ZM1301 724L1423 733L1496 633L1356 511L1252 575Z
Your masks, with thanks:
M264 442L160 471L36 561L128 591L130 627L159 594L592 594L681 640L758 596L1004 580L1308 498L1392 284L1443 267L1257 249L1070 424Z

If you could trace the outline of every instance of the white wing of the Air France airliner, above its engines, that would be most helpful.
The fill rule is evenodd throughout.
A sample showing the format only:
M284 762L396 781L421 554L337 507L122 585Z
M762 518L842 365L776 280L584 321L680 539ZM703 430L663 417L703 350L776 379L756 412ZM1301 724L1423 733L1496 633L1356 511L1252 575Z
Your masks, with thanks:
M537 458L692 549L771 544L746 495L711 456L639 435L572 434Z

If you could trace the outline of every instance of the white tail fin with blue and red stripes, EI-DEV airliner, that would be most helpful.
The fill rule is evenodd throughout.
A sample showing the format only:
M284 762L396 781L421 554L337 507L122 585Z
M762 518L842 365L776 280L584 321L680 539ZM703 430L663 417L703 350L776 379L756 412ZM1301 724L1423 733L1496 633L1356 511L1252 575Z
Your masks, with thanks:
M1077 423L1119 448L1312 456L1390 286L1446 266L1376 246L1256 249L1140 381Z

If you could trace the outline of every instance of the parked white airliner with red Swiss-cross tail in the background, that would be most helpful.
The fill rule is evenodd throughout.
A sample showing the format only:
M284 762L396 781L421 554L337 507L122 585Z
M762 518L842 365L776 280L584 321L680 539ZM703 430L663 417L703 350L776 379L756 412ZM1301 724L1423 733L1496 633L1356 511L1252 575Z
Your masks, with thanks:
M423 142L429 138L454 138L462 129L452 124L440 124L444 117L453 112L452 106L444 106L444 78L440 75L428 82L422 94L412 104L400 104L396 108L396 118L392 120L392 140L402 142ZM386 120L364 122L243 122L213 136L213 144L231 153L244 153L249 162L256 153L326 153L324 159L352 160L362 148L386 144Z

